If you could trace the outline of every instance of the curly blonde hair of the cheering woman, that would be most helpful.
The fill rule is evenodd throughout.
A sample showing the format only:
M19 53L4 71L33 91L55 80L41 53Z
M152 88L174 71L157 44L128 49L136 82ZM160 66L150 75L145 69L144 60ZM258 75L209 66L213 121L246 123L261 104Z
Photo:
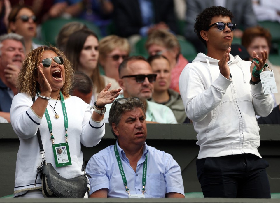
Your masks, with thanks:
M40 58L42 57L44 51L53 51L57 54L57 56L61 56L63 58L65 82L60 91L62 91L64 95L69 96L69 91L72 88L75 73L72 68L72 64L64 55L64 53L53 46L42 46L29 52L22 63L22 68L17 78L18 90L22 93L27 93L28 96L36 95L36 90L39 88L39 83L36 80L38 77L37 67L40 63Z

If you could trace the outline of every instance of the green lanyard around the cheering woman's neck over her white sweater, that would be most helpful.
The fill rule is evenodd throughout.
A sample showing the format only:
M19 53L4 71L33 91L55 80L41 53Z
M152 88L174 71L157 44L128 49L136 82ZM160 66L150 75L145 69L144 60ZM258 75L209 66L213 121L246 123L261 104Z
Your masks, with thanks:
M40 93L41 93L40 90L37 90L37 95L40 94ZM66 132L65 133L65 138L66 138L66 142L67 142L68 119L67 119L65 101L64 101L64 97L63 97L63 94L62 94L61 91L60 91L60 100L61 100L62 112L64 114L64 128L65 128L65 132ZM49 116L47 108L45 110L45 116L46 116L46 119L47 119L47 122L48 122L48 127L49 127L49 131L50 131L50 135L51 135L50 140L53 142L53 144L55 144L55 142L54 142L55 137L53 136L53 126L52 126L52 122L50 121L50 116Z

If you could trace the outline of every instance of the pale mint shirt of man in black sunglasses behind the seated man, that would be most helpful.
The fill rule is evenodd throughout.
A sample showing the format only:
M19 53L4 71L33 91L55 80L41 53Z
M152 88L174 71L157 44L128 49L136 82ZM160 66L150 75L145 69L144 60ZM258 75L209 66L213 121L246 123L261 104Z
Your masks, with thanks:
M116 99L123 98L123 94L120 94ZM157 123L177 123L177 120L174 116L172 110L163 104L158 104L146 100L147 110L146 110L146 121L153 121ZM104 114L104 122L109 123L109 112L112 104L105 105L106 112Z

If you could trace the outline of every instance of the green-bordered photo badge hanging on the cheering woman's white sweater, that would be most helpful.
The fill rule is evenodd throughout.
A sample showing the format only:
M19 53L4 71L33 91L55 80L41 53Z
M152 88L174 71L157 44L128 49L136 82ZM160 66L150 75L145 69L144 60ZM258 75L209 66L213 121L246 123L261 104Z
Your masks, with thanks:
M56 167L72 165L68 142L53 144L53 154Z

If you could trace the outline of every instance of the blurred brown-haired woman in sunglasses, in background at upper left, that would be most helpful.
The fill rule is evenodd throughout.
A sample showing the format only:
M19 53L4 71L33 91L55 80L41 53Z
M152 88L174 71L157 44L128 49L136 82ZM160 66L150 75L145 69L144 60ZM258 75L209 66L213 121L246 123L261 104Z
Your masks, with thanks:
M39 46L32 41L36 36L36 22L35 13L26 5L15 6L9 15L9 31L23 36L26 54Z

